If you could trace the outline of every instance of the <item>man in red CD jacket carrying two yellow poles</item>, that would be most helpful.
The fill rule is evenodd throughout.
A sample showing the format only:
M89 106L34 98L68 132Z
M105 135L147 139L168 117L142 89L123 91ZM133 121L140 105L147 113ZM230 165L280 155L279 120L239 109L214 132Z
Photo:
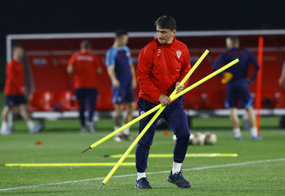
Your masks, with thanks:
M172 101L169 98L179 83L190 71L190 55L187 46L176 40L176 22L170 16L162 16L155 22L157 38L147 44L140 52L137 67L137 80L141 85L139 93L139 115L144 114L158 104L166 106L154 123L139 140L136 149L136 167L138 178L135 188L151 189L145 175L147 158L156 123L164 118L176 135L173 168L167 180L180 188L191 187L180 170L189 142L189 128L182 106L184 97ZM185 85L187 82L185 83ZM179 86L180 92L184 85ZM140 120L139 132L148 124L156 112Z

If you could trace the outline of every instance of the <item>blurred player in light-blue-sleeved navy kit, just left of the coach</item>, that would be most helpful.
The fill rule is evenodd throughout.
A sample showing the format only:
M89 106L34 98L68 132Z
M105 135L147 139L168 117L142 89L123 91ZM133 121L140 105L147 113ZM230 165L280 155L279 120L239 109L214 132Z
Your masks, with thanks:
M114 130L120 128L123 119L123 104L127 105L127 116L123 123L129 123L133 118L135 109L134 91L137 87L137 78L133 65L131 52L126 44L129 36L127 31L123 29L116 30L116 37L113 46L106 53L106 66L108 75L112 81L113 100L115 107L115 126ZM115 135L114 140L120 142L122 140L133 140L129 135L130 127Z

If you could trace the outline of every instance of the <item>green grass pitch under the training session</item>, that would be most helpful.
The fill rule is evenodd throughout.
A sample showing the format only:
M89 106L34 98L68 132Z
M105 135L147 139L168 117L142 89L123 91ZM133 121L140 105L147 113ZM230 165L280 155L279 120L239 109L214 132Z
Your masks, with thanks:
M243 130L243 140L234 141L228 118L194 118L191 131L212 130L217 134L218 141L213 146L189 146L187 153L237 153L238 156L185 158L182 170L192 185L189 189L180 189L166 180L172 169L172 158L149 158L146 172L153 172L147 174L152 190L135 189L135 166L120 166L107 184L97 190L112 166L3 165L117 162L119 158L104 155L123 154L131 145L130 141L117 143L110 139L81 153L111 133L111 119L98 121L95 134L79 133L77 119L46 121L46 129L34 135L28 134L25 122L16 121L14 134L0 135L0 195L284 195L284 131L278 130L276 117L262 118L261 122L266 127L261 130L262 140L252 141L249 131ZM137 129L136 123L131 128L131 135L137 136ZM162 136L162 131L157 131L150 153L173 153L172 135ZM34 145L36 141L42 141L43 145ZM131 154L134 153L135 149ZM126 158L124 162L135 162L135 158ZM9 190L17 187L19 189Z

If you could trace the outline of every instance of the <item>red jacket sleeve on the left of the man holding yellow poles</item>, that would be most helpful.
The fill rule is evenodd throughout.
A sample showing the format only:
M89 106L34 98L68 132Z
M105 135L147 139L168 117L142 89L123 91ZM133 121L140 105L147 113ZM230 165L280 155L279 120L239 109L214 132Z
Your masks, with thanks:
M154 99L162 94L150 81L153 52L151 48L144 47L139 54L139 64L137 66L137 81L144 92Z

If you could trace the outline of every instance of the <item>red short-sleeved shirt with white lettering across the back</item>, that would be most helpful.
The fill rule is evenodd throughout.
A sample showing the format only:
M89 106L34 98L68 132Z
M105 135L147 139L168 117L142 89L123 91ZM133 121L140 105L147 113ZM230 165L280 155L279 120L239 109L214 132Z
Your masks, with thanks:
M101 61L95 54L89 52L76 52L72 54L68 66L74 66L74 88L96 88L97 68Z

